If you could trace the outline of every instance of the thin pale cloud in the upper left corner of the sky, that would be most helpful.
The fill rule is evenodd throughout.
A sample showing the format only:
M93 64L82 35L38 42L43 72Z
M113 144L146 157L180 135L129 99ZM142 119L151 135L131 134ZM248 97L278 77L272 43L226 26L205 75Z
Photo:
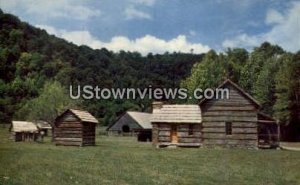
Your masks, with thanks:
M99 10L91 9L83 2L71 0L37 1L37 0L9 0L0 1L1 7L8 12L25 12L40 17L70 18L86 20L101 14Z

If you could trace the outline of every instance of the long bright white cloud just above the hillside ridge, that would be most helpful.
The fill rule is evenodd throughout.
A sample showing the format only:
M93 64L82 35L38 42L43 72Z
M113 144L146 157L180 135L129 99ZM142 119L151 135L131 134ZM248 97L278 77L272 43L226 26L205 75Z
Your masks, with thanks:
M193 49L194 53L205 53L210 48L201 43L191 43L187 41L185 35L178 35L171 40L164 40L152 35L145 35L144 37L130 40L124 36L115 36L109 42L103 42L96 37L92 36L88 31L66 31L58 30L51 26L37 25L42 29L47 30L49 33L58 37L64 38L77 45L87 45L93 49L107 48L118 52L125 51L138 51L143 55L152 53L165 53L168 52L183 52L189 53Z

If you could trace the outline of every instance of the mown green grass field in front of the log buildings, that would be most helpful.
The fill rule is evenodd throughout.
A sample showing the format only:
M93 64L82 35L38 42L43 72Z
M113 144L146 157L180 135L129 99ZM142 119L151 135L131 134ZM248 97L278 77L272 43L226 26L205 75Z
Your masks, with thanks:
M0 184L300 184L300 152L155 149L97 136L94 147L15 143L0 129Z

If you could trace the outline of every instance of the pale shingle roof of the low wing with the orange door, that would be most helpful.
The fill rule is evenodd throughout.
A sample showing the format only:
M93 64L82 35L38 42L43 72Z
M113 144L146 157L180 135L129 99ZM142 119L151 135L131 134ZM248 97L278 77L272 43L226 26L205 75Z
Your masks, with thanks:
M201 123L201 110L199 105L163 105L152 114L150 121L152 123Z

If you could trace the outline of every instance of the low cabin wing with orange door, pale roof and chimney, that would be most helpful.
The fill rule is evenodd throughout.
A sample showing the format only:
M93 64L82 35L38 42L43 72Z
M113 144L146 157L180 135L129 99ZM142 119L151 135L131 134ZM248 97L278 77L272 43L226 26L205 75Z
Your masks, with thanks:
M201 110L198 105L153 103L152 143L156 147L201 145Z

